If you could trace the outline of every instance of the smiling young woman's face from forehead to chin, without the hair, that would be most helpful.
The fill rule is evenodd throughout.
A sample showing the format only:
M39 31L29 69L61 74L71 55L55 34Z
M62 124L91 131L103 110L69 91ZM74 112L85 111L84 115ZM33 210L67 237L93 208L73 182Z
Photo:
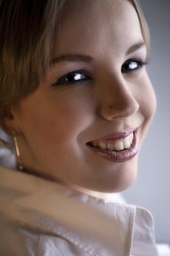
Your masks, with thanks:
M50 71L13 110L23 165L86 189L129 187L155 112L146 59L129 1L66 1Z

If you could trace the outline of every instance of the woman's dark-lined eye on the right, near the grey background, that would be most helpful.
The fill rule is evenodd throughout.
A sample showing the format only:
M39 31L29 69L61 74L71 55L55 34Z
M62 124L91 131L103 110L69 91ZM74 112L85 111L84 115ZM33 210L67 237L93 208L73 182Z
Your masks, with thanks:
M123 73L133 72L142 68L148 61L142 61L141 59L128 59L122 65L121 71Z

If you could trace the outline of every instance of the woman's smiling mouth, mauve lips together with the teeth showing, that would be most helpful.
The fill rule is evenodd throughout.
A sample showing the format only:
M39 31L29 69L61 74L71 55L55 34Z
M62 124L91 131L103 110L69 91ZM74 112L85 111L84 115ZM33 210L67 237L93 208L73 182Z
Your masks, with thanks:
M137 130L117 132L99 140L87 143L87 146L100 157L112 162L125 162L136 156L138 143Z

